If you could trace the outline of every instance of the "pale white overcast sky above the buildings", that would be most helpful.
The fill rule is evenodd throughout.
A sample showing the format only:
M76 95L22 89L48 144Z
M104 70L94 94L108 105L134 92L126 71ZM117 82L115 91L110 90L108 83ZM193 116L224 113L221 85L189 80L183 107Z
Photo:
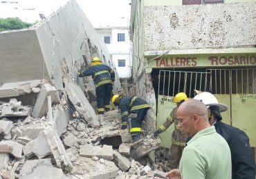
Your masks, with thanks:
M68 0L5 0L0 3L0 18L19 17L32 23L39 21L39 13L48 15ZM14 3L17 2L17 3ZM131 0L77 0L94 27L107 26L120 19L129 19ZM128 21L128 20L127 20Z

